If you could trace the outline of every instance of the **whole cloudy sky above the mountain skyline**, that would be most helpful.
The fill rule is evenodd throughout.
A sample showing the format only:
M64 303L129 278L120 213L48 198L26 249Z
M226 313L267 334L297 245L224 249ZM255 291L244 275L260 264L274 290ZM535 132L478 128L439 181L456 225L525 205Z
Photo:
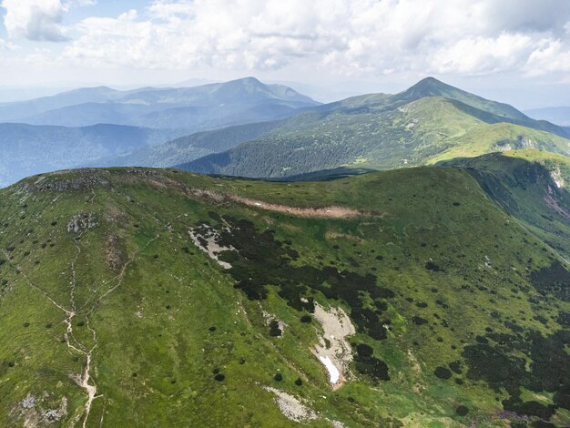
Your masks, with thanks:
M435 76L570 105L570 0L0 0L0 100L243 76L322 101Z

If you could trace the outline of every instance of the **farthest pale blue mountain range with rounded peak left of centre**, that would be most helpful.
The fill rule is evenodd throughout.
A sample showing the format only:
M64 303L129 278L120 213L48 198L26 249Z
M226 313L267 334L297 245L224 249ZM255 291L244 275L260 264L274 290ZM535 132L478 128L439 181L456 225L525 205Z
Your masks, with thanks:
M78 89L0 105L0 121L65 127L109 123L196 132L274 120L290 116L297 108L318 104L290 87L264 85L254 77L246 77L199 87Z

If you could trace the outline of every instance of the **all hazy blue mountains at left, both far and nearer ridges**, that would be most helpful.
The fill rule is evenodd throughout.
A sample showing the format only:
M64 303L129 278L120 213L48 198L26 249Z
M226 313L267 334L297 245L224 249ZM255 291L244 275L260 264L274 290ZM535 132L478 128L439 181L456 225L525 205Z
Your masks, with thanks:
M0 122L6 123L0 123L0 186L42 171L97 163L201 129L287 117L317 104L289 87L263 85L252 77L176 89L84 88L1 104ZM191 159L177 158L175 163Z

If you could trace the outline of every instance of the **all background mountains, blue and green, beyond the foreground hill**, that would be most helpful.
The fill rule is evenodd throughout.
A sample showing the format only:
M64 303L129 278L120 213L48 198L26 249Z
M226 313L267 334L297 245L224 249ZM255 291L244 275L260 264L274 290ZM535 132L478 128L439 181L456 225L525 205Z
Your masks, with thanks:
M6 150L18 159L5 162L4 185L77 166L177 167L289 179L335 168L430 165L510 149L570 153L567 128L433 77L399 94L324 105L253 77L176 89L96 87L0 106L0 119L9 117L27 124L2 125L2 147L11 143ZM89 129L95 125L89 124L98 122L106 130L93 140ZM44 144L51 147L49 158L39 149Z

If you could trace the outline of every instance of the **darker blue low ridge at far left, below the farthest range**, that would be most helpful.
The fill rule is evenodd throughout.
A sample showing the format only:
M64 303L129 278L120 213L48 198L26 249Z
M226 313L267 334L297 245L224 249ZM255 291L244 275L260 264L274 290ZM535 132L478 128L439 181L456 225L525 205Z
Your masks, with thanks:
M49 127L0 124L0 187L38 172L72 168L179 136L178 130L120 125Z

